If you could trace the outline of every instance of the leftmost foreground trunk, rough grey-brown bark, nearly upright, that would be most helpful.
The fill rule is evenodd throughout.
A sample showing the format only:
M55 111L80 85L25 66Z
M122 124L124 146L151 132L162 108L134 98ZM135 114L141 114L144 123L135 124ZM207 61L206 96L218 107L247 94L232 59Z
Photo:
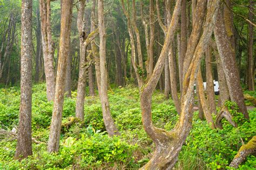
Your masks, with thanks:
M32 0L22 1L21 104L15 159L32 155Z

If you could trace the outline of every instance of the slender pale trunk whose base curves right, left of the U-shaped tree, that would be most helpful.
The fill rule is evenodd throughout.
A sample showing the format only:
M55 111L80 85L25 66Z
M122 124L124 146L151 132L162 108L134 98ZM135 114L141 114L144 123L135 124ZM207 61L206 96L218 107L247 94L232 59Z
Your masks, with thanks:
M116 125L110 114L109 98L107 97L107 70L106 70L106 33L104 25L103 0L98 1L98 19L99 19L99 64L100 64L100 101L102 103L102 112L104 124L107 133L119 135Z

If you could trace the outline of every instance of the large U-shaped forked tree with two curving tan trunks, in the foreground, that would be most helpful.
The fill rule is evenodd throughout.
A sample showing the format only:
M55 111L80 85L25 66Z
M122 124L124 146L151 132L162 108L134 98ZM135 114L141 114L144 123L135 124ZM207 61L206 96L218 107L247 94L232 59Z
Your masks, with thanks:
M185 94L181 100L180 119L171 132L161 130L153 126L152 123L152 94L156 88L160 74L163 71L164 60L168 55L169 47L172 43L174 31L177 26L177 18L180 11L181 1L176 1L172 20L166 35L163 49L160 53L158 62L155 66L152 77L140 94L140 106L142 107L142 121L146 133L156 144L156 151L151 160L142 169L172 169L178 159L178 154L183 146L192 125L193 112L193 93L194 81L198 72L198 67L203 53L208 45L208 41L212 35L214 22L218 12L219 1L209 1L206 15L204 32L197 45L196 51L193 53L192 62L186 73L183 92Z

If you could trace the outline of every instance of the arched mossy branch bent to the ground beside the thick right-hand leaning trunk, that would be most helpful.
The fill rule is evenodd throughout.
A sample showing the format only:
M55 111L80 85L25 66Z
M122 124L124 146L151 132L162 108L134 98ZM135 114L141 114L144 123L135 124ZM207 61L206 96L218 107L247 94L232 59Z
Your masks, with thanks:
M237 124L234 123L232 120L232 114L230 111L228 111L228 108L226 106L223 106L220 110L220 112L217 114L216 121L215 121L215 126L219 129L223 129L223 126L221 124L221 120L225 118L227 121L234 127L237 127Z

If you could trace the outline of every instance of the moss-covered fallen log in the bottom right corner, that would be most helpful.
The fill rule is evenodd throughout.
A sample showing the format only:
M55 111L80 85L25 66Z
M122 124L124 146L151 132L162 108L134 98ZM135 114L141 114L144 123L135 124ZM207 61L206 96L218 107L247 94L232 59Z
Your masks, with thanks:
M246 157L256 151L256 136L252 137L246 145L242 145L235 155L234 159L230 163L230 167L238 168L238 166L244 162Z

